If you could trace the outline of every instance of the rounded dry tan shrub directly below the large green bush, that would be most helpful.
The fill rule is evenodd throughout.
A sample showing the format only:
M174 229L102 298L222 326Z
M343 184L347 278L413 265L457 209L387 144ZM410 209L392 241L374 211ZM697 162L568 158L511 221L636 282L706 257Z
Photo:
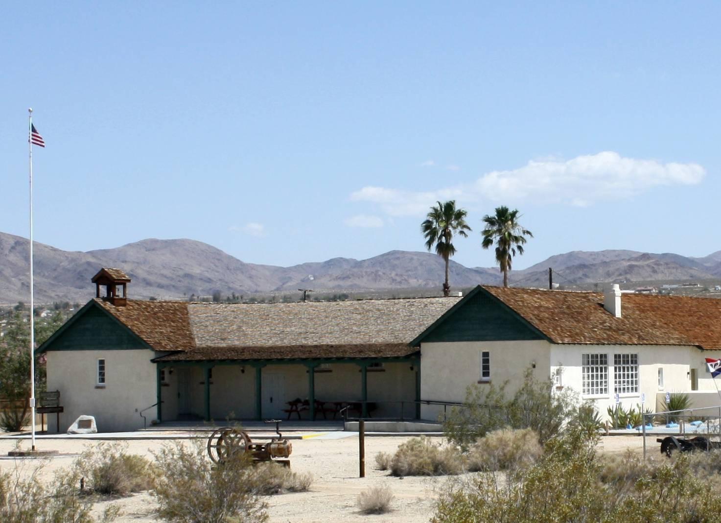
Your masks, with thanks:
M543 454L532 428L502 428L479 439L468 454L468 470L506 470L528 467Z

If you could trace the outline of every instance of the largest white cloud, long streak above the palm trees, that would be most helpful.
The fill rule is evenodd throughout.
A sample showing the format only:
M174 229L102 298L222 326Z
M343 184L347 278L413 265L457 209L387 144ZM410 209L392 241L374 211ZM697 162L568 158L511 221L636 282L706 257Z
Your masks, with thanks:
M350 199L375 203L391 216L420 216L435 201L461 198L464 205L487 200L512 205L533 201L585 207L598 201L629 198L658 186L695 185L705 175L704 167L695 163L662 163L604 151L570 160L531 160L518 169L488 172L472 183L437 190L364 187L352 193Z

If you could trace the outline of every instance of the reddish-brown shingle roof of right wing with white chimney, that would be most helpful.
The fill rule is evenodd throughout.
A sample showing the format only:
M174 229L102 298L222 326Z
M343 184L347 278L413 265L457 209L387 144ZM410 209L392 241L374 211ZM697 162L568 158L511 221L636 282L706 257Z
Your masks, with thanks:
M623 294L621 317L598 292L485 287L554 343L721 348L721 300Z

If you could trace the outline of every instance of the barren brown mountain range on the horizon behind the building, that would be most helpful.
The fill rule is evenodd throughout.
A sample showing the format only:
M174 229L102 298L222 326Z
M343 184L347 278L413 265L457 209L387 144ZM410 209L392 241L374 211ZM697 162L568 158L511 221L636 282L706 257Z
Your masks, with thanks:
M0 232L0 304L27 302L30 242ZM187 299L213 292L297 294L314 291L380 291L433 289L440 292L443 260L430 252L392 250L355 260L332 258L292 267L246 263L192 239L143 239L113 249L64 251L35 242L35 299L85 302L94 296L90 279L101 267L121 268L132 282L128 296L148 299ZM721 277L721 251L704 258L633 250L572 251L554 255L523 271L510 273L510 284L547 286L548 268L554 281L566 285L597 282L684 281ZM498 285L497 267L467 268L451 260L452 290L477 284ZM426 292L425 294L429 294Z

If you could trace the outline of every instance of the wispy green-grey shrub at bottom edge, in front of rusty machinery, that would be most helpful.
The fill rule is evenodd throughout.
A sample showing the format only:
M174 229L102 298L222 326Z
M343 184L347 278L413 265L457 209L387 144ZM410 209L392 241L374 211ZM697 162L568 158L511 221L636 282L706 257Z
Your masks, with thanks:
M223 465L208 458L203 441L174 441L156 452L154 495L158 516L171 522L265 522L257 474L247 454L236 452Z

